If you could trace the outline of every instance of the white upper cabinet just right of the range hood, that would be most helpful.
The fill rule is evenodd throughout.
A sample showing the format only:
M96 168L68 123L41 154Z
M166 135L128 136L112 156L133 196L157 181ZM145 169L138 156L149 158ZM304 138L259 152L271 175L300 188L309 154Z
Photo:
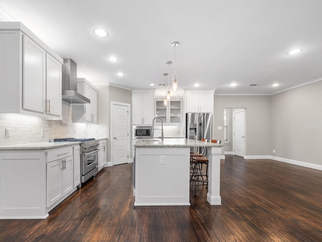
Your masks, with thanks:
M85 78L77 78L77 92L86 96L91 103L72 106L72 119L74 123L97 123L97 89Z

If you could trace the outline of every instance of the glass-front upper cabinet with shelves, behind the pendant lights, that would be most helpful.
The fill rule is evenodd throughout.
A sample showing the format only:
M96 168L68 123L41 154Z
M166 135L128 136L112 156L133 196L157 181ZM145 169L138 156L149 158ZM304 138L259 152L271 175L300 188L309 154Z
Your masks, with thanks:
M171 98L167 105L164 105L164 99L155 99L154 117L160 117L163 124L181 125L182 123L182 99ZM156 124L161 124L160 119L155 119Z

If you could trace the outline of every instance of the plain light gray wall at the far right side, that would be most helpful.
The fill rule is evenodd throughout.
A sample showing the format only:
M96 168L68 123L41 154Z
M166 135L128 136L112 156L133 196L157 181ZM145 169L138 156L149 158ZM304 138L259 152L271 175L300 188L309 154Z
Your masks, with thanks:
M322 165L321 91L318 81L270 97L270 155Z

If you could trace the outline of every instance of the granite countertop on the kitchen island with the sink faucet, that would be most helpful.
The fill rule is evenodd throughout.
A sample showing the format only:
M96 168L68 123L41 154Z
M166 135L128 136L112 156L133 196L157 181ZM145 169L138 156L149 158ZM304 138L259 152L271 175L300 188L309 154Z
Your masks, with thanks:
M139 139L135 147L222 147L223 144L215 144L211 142L204 142L191 139L167 139L163 141L161 139Z

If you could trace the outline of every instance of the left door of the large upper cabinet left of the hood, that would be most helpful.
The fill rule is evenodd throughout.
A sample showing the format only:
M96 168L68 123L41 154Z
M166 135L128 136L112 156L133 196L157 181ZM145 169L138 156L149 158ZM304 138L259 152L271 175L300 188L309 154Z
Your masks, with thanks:
M46 52L26 35L23 42L23 108L44 112Z

